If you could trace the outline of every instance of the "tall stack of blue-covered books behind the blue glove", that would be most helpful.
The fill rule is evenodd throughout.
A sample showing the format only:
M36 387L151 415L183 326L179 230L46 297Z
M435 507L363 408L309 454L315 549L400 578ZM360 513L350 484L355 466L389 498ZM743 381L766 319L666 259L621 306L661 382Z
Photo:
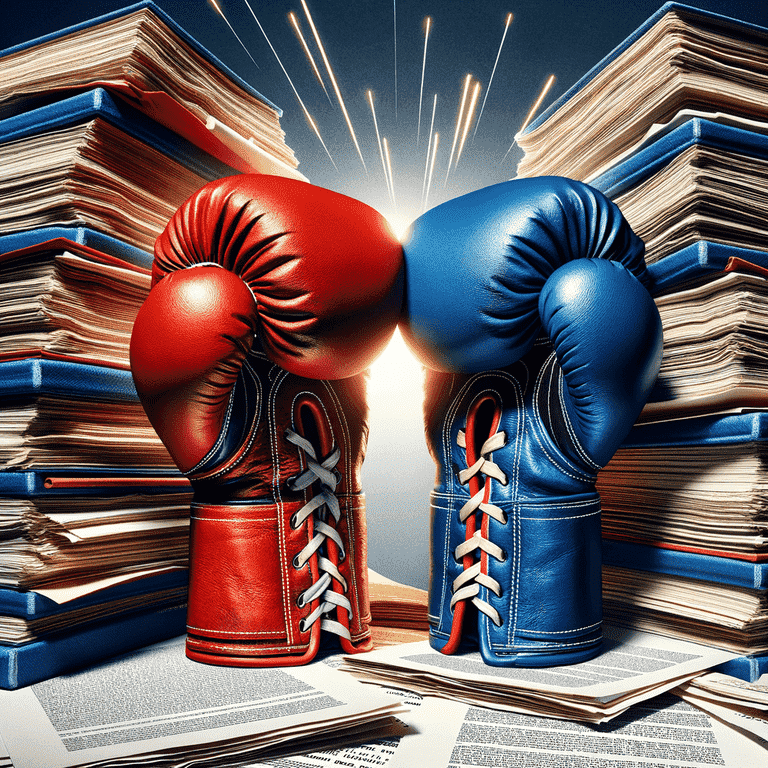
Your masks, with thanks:
M664 357L600 473L606 618L768 669L768 30L667 3L518 136L646 243Z

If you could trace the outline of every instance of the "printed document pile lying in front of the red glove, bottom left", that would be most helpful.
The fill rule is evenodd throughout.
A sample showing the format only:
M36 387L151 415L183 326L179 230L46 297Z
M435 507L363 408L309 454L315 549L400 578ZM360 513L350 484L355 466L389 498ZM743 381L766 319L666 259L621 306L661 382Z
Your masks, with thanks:
M199 664L175 638L16 691L0 691L0 736L15 768L66 768L184 750L241 755L370 728L404 712L391 696L316 663L240 669ZM381 733L377 734L381 735ZM364 740L364 739L360 739ZM348 741L348 739L347 739ZM112 763L110 763L112 764ZM165 765L155 761L153 764Z

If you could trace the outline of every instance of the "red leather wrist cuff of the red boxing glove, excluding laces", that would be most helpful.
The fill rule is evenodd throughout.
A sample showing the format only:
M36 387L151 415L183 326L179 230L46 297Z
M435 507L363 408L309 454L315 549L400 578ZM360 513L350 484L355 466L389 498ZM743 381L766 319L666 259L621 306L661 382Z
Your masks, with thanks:
M339 570L350 584L347 597L353 606L352 643L342 641L342 647L351 653L370 636L365 502L361 495L340 501L337 530L349 542L350 556ZM317 603L297 605L317 578L316 569L312 561L300 569L292 565L312 538L311 526L290 527L301 504L193 506L187 648L196 658L258 666L273 657L304 657L316 650L319 621L308 631L301 630L300 621Z

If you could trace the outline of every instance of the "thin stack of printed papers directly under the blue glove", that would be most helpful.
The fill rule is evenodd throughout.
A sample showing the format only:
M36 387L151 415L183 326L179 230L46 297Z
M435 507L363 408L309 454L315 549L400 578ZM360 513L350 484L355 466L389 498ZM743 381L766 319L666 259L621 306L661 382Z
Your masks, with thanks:
M478 652L446 656L422 642L348 656L343 669L364 681L422 695L601 723L732 656L727 651L609 627L601 655L570 666L489 667Z

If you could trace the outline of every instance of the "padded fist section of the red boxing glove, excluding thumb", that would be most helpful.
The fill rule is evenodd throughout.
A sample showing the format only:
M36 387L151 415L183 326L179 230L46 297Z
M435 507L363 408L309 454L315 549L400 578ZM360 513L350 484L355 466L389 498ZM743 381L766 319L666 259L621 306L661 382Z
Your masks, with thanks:
M386 221L306 182L243 174L199 190L158 238L153 282L208 262L250 287L261 347L292 373L359 373L397 323L402 248Z

